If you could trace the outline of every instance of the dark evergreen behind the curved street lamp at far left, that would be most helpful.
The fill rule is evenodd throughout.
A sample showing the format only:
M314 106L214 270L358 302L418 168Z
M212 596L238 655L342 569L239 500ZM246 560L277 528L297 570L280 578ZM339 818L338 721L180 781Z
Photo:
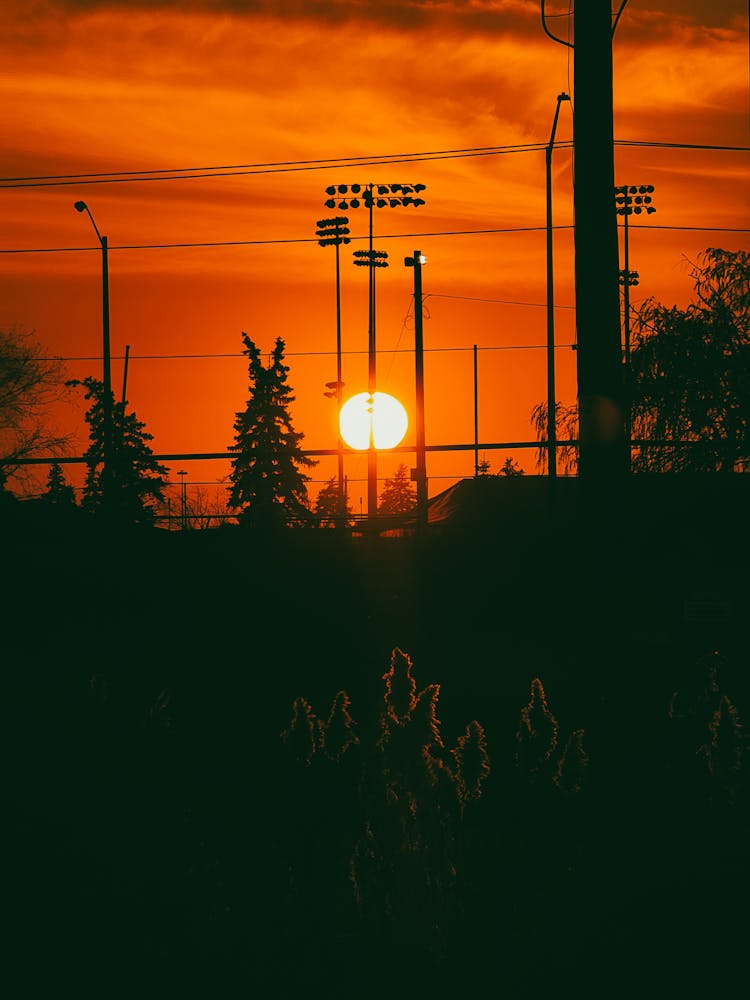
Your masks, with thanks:
M155 506L164 501L168 469L154 458L149 445L153 434L134 412L127 412L127 403L110 401L112 440L110 468L104 467L104 384L92 377L73 379L69 385L81 385L85 398L91 400L86 412L90 444L84 458L87 472L83 490L85 510L101 511L105 500L105 475L108 474L109 496L106 513L119 521L132 524L153 524Z

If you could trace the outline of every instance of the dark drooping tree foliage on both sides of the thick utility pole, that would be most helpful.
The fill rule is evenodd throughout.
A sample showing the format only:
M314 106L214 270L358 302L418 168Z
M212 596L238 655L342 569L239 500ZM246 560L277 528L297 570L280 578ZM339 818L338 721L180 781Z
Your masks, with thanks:
M625 372L634 472L732 472L750 463L750 253L704 250L686 309L647 299L633 311ZM577 467L575 405L557 404L558 457ZM532 411L546 465L547 405Z

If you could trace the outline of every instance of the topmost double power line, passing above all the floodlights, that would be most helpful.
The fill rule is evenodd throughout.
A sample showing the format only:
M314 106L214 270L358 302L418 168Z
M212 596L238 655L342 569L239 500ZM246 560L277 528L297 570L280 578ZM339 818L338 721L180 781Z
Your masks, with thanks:
M572 140L556 144L570 149ZM662 149L694 149L713 152L750 152L748 146L723 146L709 143L651 142L639 139L616 139L616 146L650 146ZM40 174L27 177L0 177L0 188L60 187L79 184L119 184L158 180L205 180L211 177L247 176L250 174L289 173L306 170L343 170L348 167L389 166L430 160L461 159L478 156L503 156L509 153L539 152L546 143L518 143L506 146L474 146L465 149L426 150L414 153L386 153L382 156L326 157L316 160L279 160L269 163L239 163L203 167L166 169L112 170L99 173Z

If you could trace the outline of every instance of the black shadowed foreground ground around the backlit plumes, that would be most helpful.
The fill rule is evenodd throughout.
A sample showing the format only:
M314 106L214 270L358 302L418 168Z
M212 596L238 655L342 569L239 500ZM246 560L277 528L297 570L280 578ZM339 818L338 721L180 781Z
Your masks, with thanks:
M722 695L750 719L744 499L650 501L614 542L3 524L13 996L745 995L750 757L700 752ZM358 907L368 821L404 819L373 804L396 647L446 759L476 719L492 770L440 857L429 824L381 838ZM578 793L514 763L535 677L584 730ZM325 720L341 689L360 745L299 765L293 700Z

